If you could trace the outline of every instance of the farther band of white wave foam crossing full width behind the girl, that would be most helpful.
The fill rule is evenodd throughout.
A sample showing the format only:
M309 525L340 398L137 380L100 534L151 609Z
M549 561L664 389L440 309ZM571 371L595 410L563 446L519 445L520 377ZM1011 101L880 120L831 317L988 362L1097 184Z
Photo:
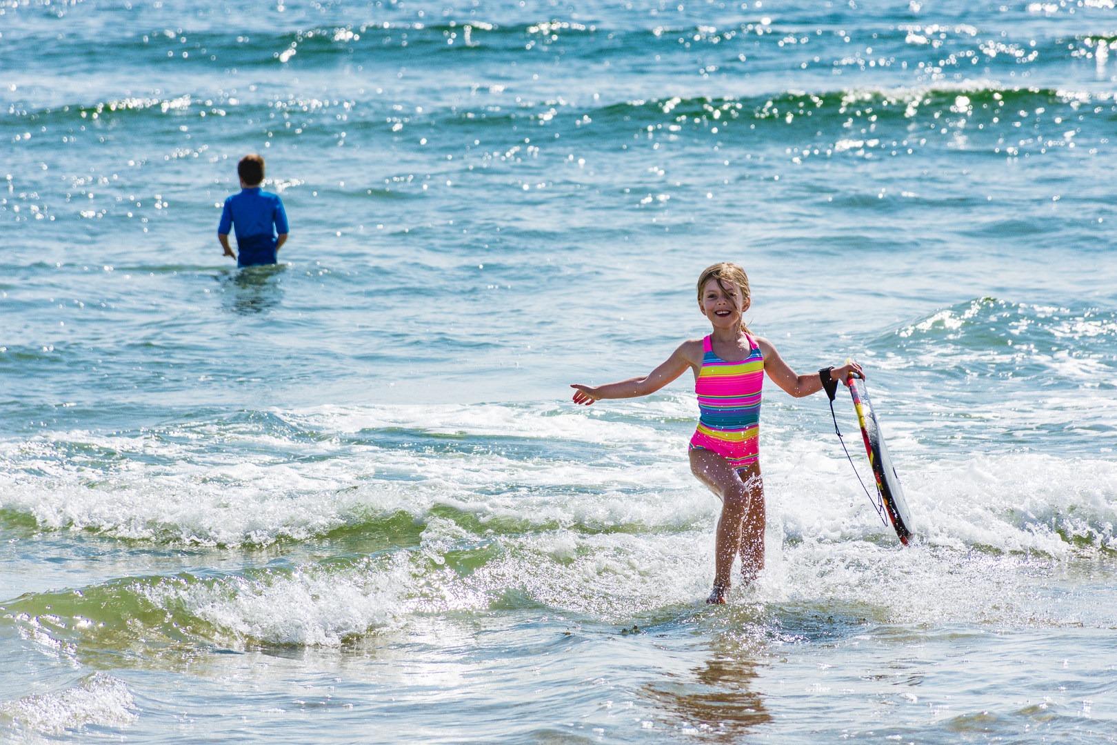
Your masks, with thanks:
M144 437L101 441L85 434L83 442L136 453L89 478L86 469L58 458L38 453L28 460L8 448L0 453L9 464L0 506L51 529L92 528L117 537L202 545L305 538L400 510L422 519L435 505L475 515L483 524L507 518L588 529L695 526L717 512L716 500L689 475L684 428L665 427L658 416L618 424L550 408L477 409L452 407L426 417L411 408L388 407L287 416L338 434L371 427L442 431L455 422L455 441L468 447L439 450L378 447L369 439L344 447L306 446L266 433L273 455L262 462L179 443L169 466L141 460ZM336 429L327 427L331 422ZM626 430L629 439L615 438L602 448L613 428ZM930 457L913 428L894 429L897 468L926 541L1052 555L1071 550L1070 536L1106 548L1117 542L1117 467L1110 461L1011 452ZM538 446L517 452L509 445L514 437L521 447ZM786 423L766 428L762 440L770 515L781 520L790 539L890 534L872 514L840 449L832 443L819 448ZM860 443L849 445L855 458L863 459ZM304 457L308 447L317 457ZM572 449L577 458L569 456ZM860 466L871 486L868 469ZM28 469L49 477L19 475Z

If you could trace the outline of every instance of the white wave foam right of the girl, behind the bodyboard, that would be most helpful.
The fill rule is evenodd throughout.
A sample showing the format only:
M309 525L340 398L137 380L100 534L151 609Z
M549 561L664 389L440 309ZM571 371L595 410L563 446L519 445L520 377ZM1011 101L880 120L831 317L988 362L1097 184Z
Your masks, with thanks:
M784 533L830 541L890 536L850 465L812 448L790 442L767 458L770 510ZM1117 465L1110 460L1040 453L894 460L916 528L933 545L1053 556L1075 551L1070 535L1096 548L1117 545ZM855 462L875 494L867 464Z

